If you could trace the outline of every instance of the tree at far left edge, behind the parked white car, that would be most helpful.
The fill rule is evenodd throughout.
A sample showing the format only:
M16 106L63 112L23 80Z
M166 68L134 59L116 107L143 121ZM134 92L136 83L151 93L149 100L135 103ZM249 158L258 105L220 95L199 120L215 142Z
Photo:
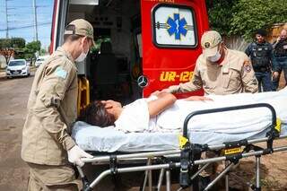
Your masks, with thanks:
M0 54L4 56L6 64L8 64L15 51L24 46L25 39L22 38L0 39Z

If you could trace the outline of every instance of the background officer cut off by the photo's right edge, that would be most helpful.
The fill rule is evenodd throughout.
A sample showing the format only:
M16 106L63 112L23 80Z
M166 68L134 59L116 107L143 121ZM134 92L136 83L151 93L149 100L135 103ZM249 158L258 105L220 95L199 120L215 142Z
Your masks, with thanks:
M284 71L285 82L287 82L287 30L282 30L280 36L274 42L274 74L273 90L276 91L280 74ZM285 84L286 85L286 84Z

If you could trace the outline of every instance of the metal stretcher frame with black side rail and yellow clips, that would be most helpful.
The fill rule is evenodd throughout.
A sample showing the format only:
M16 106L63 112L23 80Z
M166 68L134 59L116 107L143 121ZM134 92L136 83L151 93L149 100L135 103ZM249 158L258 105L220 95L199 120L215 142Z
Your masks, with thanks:
M226 112L230 110L238 109L254 109L254 108L266 108L269 109L272 113L272 124L270 130L266 133L264 138L258 138L253 140L240 140L237 142L222 143L217 145L207 145L207 144L194 144L190 143L187 135L187 124L192 117L197 115L204 115L209 113L216 112ZM152 190L152 170L160 169L160 175L157 183L156 190L161 190L162 180L164 174L166 176L166 190L170 191L170 172L171 169L180 169L179 173L179 185L178 191L187 188L193 187L193 190L198 190L198 180L197 177L204 169L208 167L213 162L225 161L225 169L213 179L213 181L204 188L204 190L209 190L213 185L218 182L221 178L225 177L225 189L229 190L229 177L228 172L235 164L239 162L240 159L248 158L255 156L256 164L256 183L251 184L247 183L248 186L256 191L261 190L260 185L260 157L266 154L272 154L274 152L283 152L287 150L286 146L273 147L273 142L275 139L287 138L287 135L280 135L280 128L277 126L276 113L274 108L266 103L258 103L251 105L243 105L222 109L206 109L198 110L193 113L190 113L184 122L183 127L183 138L186 139L186 143L181 145L181 148L178 150L162 151L162 152L136 152L136 153L127 153L127 154L108 154L105 156L95 156L92 159L83 159L84 163L93 163L93 164L109 164L109 169L106 169L100 173L100 175L93 179L91 182L88 181L86 176L83 173L83 169L77 166L79 175L83 181L83 190L90 191L93 187L97 186L100 183L100 180L109 176L116 175L126 172L135 172L135 171L145 171L144 181L142 190L145 190L145 187L148 183L149 190ZM266 143L265 148L258 147L254 143ZM244 147L244 149L242 149ZM241 148L237 152L231 152L224 154L223 156L217 156L209 159L200 159L200 156L203 152L206 151L232 151L234 148ZM236 149L235 149L236 150ZM152 164L153 160L161 160L161 163ZM178 159L180 161L172 161L169 159ZM132 167L118 168L118 164L123 161L134 162L134 161L146 161L146 165L138 165ZM198 169L198 165L202 165Z

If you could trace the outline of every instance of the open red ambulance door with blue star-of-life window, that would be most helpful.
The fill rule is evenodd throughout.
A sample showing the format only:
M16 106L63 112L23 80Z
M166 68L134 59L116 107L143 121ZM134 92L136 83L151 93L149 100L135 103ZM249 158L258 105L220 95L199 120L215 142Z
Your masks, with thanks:
M141 0L141 14L143 75L138 84L147 97L191 79L208 19L204 0Z

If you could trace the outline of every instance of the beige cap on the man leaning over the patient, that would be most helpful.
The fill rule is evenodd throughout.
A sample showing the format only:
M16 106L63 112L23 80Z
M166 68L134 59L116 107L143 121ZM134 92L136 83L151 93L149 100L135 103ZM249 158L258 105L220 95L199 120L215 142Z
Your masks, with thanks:
M204 57L215 56L217 45L222 42L222 36L215 30L204 32L201 38L201 47L203 48Z

